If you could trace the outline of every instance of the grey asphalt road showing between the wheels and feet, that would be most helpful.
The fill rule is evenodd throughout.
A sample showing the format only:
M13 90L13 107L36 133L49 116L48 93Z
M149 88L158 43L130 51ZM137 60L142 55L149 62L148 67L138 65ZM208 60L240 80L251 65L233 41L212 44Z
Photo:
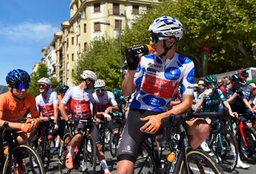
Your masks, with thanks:
M109 151L105 152L105 156L106 156L107 164L109 165L110 171L112 171L112 173L114 174L115 170L117 168L117 165L116 165L117 158L112 158ZM256 163L256 161L255 161L255 163ZM58 172L58 158L57 158L56 154L53 156L53 159L51 159L51 161L50 161L50 168L49 168L47 173L48 174L59 173ZM74 171L74 172L72 172L72 174L73 173L80 173L80 172L79 171ZM242 173L242 174L256 173L256 165L255 164L250 164L250 169L249 170L236 168L232 173ZM95 174L104 174L100 170L99 165L97 165L97 172Z

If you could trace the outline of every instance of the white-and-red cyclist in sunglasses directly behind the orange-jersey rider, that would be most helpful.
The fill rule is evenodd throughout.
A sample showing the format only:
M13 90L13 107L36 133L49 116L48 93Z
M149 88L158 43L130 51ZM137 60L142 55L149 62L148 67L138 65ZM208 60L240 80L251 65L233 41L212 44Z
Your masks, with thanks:
M43 120L51 119L54 123L54 128L49 129L49 144L57 135L56 131L58 130L58 94L50 90L50 87L50 79L42 77L38 80L40 94L36 96L36 108L39 114L43 116Z

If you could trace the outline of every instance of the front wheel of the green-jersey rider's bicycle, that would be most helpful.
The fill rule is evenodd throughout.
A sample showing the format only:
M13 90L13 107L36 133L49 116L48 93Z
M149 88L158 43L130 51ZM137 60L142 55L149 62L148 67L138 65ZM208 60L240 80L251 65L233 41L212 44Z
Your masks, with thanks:
M229 130L225 130L218 134L215 141L218 164L226 172L232 172L235 170L235 166L238 163L238 144L235 136ZM233 147L233 150L231 149ZM235 151L235 153L233 153Z

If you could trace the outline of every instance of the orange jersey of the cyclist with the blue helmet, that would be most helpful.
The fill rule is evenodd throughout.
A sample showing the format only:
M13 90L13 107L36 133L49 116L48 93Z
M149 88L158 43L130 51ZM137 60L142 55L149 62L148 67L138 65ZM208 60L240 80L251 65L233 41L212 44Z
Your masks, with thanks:
M0 94L0 119L16 122L23 119L28 109L33 118L39 116L33 94L26 94L24 99L19 102L14 99L14 94L11 91Z

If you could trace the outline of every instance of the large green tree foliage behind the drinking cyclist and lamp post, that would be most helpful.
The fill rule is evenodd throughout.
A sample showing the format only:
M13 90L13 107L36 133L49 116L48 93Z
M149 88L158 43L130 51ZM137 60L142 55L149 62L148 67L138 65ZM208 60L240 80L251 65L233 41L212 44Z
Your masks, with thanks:
M131 45L149 43L149 25L160 16L172 16L183 23L177 52L193 60L196 77L203 73L202 45L210 45L210 74L256 65L256 0L161 1L122 32L122 55ZM93 70L107 85L119 87L118 40L95 40L77 67L77 80L82 70Z

